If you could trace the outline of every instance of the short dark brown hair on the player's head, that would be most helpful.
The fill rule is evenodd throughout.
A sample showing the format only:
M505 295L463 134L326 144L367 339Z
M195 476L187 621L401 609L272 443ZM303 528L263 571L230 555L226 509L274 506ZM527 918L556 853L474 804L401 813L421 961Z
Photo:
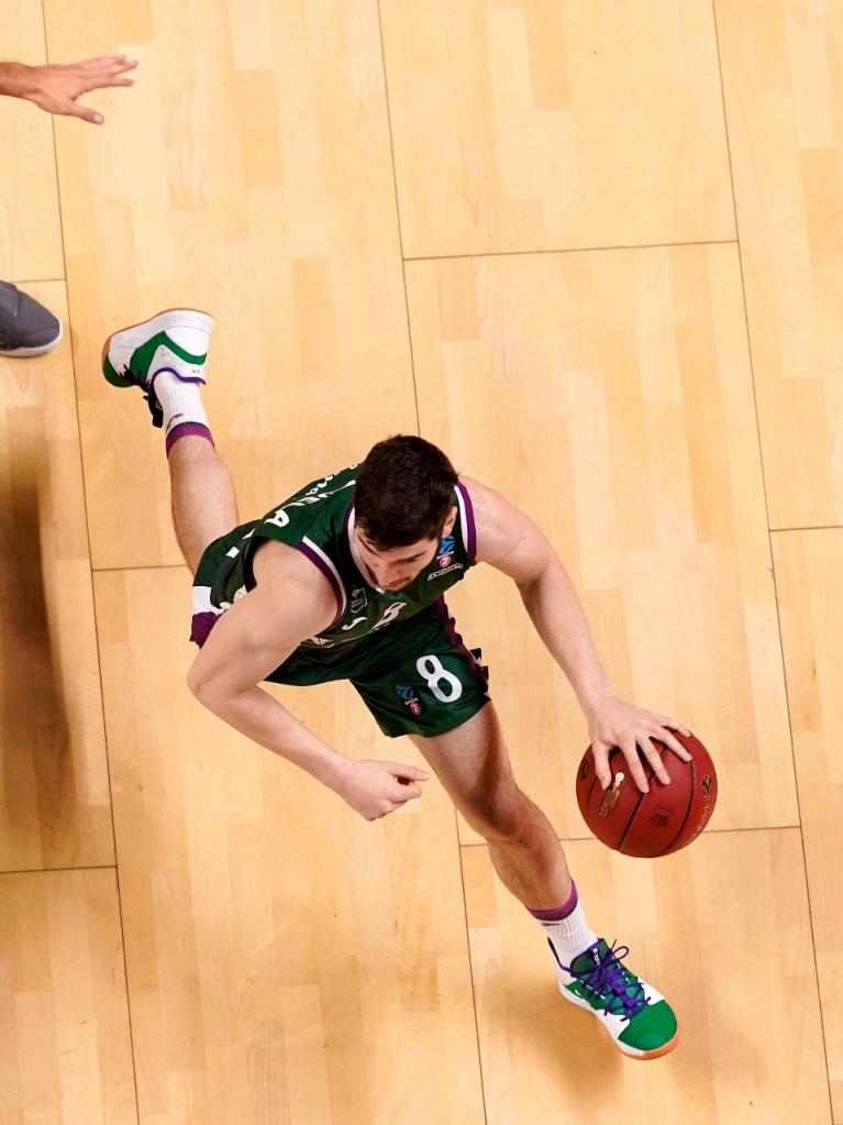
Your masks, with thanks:
M441 449L415 434L379 441L357 469L354 515L381 550L435 539L455 503L456 470Z

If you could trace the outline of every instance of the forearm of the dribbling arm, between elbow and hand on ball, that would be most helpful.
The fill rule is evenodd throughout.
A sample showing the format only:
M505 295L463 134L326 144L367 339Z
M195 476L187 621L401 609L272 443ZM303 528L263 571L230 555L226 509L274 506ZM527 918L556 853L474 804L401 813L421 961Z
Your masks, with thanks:
M582 606L562 562L554 558L534 582L519 585L527 613L584 711L611 694Z

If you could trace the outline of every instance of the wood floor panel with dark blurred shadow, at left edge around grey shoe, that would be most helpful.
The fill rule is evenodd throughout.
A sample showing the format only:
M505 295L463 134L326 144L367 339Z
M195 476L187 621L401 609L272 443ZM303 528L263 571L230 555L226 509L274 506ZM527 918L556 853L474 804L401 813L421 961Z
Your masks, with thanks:
M33 295L66 320L64 285ZM114 863L70 343L0 357L0 871Z

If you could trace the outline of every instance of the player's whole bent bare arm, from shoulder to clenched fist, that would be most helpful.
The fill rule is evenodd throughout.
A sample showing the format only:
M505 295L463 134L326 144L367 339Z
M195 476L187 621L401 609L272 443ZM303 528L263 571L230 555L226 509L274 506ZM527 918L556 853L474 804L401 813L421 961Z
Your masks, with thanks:
M332 749L257 685L334 620L324 576L299 551L262 548L260 580L219 618L188 673L203 706L235 730L306 770L368 820L422 795L427 774L392 762L355 762Z

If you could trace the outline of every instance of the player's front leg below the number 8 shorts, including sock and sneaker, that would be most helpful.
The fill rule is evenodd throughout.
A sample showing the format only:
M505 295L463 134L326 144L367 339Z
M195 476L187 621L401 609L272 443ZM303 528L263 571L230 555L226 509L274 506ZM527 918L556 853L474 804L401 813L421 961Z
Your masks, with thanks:
M501 882L544 928L564 999L592 1012L631 1058L672 1051L679 1032L670 1005L622 963L625 946L609 948L589 928L562 845L515 782L493 704L454 730L413 740L486 838Z

